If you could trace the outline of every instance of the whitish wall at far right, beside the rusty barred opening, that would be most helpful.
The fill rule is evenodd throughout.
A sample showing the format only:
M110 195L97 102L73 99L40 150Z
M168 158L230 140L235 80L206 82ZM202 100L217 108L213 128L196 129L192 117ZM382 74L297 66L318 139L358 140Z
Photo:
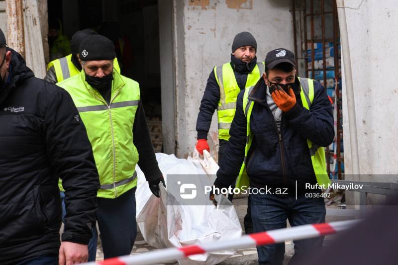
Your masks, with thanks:
M350 58L342 53L352 68L360 180L398 182L398 1L344 2ZM344 78L343 69L344 161L346 179L353 179Z

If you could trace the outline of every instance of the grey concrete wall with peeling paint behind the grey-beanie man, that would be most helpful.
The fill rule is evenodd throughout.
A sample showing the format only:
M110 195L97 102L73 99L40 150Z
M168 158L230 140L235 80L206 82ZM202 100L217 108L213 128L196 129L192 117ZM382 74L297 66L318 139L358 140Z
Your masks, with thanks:
M176 38L176 140L178 157L196 143L200 100L213 66L229 62L233 37L251 32L257 57L285 47L294 50L290 0L174 0ZM162 85L163 87L163 85ZM216 152L217 122L213 116L208 140Z

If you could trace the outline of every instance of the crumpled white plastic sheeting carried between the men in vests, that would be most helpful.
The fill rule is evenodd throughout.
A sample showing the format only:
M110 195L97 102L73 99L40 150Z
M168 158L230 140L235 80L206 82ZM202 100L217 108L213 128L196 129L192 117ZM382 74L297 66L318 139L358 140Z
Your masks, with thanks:
M198 156L195 156L195 159L178 159L174 155L157 153L156 159L166 183L168 175L184 174L200 176L201 184L211 185L218 169L208 153L204 154L204 159L199 159ZM155 248L183 247L241 237L242 228L235 208L223 195L217 195L217 207L167 203L166 189L160 185L161 197L156 198L149 190L144 174L138 166L136 170L137 224L149 245ZM200 193L197 196L208 198L208 195ZM180 260L179 263L213 265L233 254L232 250L210 252L191 256L189 259Z

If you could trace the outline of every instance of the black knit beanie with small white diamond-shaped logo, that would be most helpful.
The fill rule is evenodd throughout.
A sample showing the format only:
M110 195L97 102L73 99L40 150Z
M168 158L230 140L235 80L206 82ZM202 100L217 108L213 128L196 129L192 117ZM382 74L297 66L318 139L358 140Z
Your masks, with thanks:
M113 60L115 57L115 45L105 36L92 35L80 44L79 58L82 61Z

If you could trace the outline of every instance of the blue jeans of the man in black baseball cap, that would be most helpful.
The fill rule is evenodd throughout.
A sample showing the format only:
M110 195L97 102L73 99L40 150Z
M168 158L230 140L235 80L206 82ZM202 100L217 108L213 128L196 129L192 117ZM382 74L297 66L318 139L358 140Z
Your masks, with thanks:
M263 232L313 223L324 223L326 208L323 198L281 197L273 194L251 194L251 213L254 232ZM319 252L323 237L294 241L295 255L291 263L305 255L306 251ZM285 244L273 244L257 247L259 264L282 265L285 255Z

